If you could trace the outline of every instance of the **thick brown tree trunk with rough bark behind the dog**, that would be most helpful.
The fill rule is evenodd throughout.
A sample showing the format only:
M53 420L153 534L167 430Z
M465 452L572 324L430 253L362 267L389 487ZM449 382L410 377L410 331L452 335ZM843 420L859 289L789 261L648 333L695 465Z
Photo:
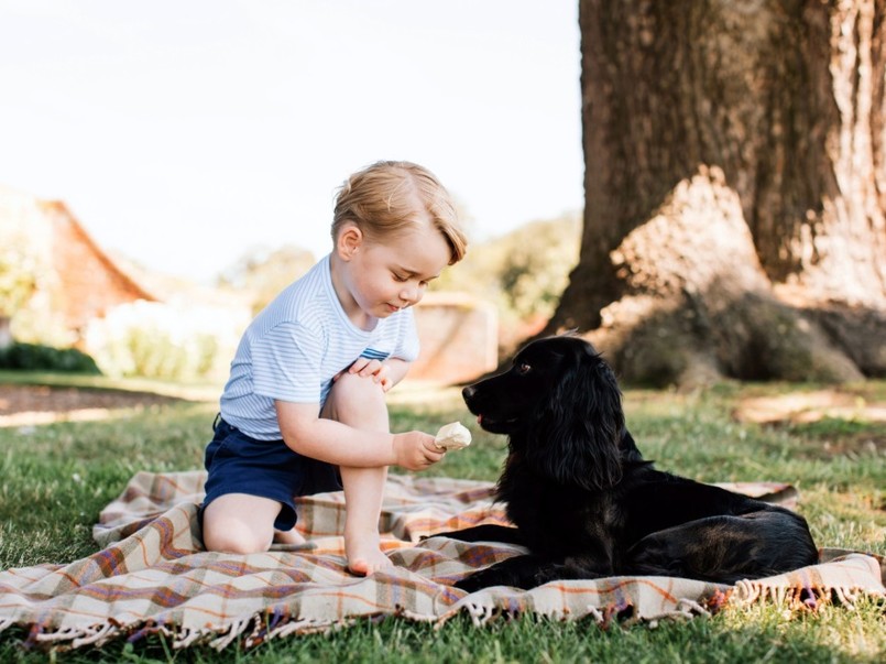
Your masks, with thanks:
M580 0L586 211L546 333L622 375L886 375L886 0Z

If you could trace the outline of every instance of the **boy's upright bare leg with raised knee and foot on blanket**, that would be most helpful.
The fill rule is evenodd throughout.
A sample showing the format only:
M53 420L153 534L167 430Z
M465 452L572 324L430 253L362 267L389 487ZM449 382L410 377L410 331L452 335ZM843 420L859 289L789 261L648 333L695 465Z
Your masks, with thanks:
M387 432L387 405L384 391L370 378L342 374L332 387L321 413L362 431ZM379 518L382 513L387 467L341 467L344 487L344 554L348 568L369 575L393 563L381 551Z

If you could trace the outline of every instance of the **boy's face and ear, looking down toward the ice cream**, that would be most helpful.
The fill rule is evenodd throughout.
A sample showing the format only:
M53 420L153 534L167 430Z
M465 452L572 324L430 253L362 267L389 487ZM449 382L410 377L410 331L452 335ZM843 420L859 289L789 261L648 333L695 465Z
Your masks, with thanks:
M427 219L382 240L369 240L357 226L347 226L336 250L343 286L336 284L336 292L358 326L417 304L451 259L446 238Z

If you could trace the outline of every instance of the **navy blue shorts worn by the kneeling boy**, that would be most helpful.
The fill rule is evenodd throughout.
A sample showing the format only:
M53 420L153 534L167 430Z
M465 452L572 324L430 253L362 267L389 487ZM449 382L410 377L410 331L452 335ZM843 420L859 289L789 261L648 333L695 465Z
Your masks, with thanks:
M248 493L276 500L283 507L274 527L288 531L295 525L296 496L341 489L338 466L296 454L283 440L256 440L234 428L221 416L214 424L216 435L206 446L204 464L206 509L219 496Z

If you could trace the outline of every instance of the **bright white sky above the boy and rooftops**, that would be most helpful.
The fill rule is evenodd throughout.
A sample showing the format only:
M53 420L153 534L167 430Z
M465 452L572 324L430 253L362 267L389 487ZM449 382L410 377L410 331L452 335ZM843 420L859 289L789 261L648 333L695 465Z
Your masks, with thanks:
M0 0L0 185L210 283L430 168L472 241L583 205L578 0Z

